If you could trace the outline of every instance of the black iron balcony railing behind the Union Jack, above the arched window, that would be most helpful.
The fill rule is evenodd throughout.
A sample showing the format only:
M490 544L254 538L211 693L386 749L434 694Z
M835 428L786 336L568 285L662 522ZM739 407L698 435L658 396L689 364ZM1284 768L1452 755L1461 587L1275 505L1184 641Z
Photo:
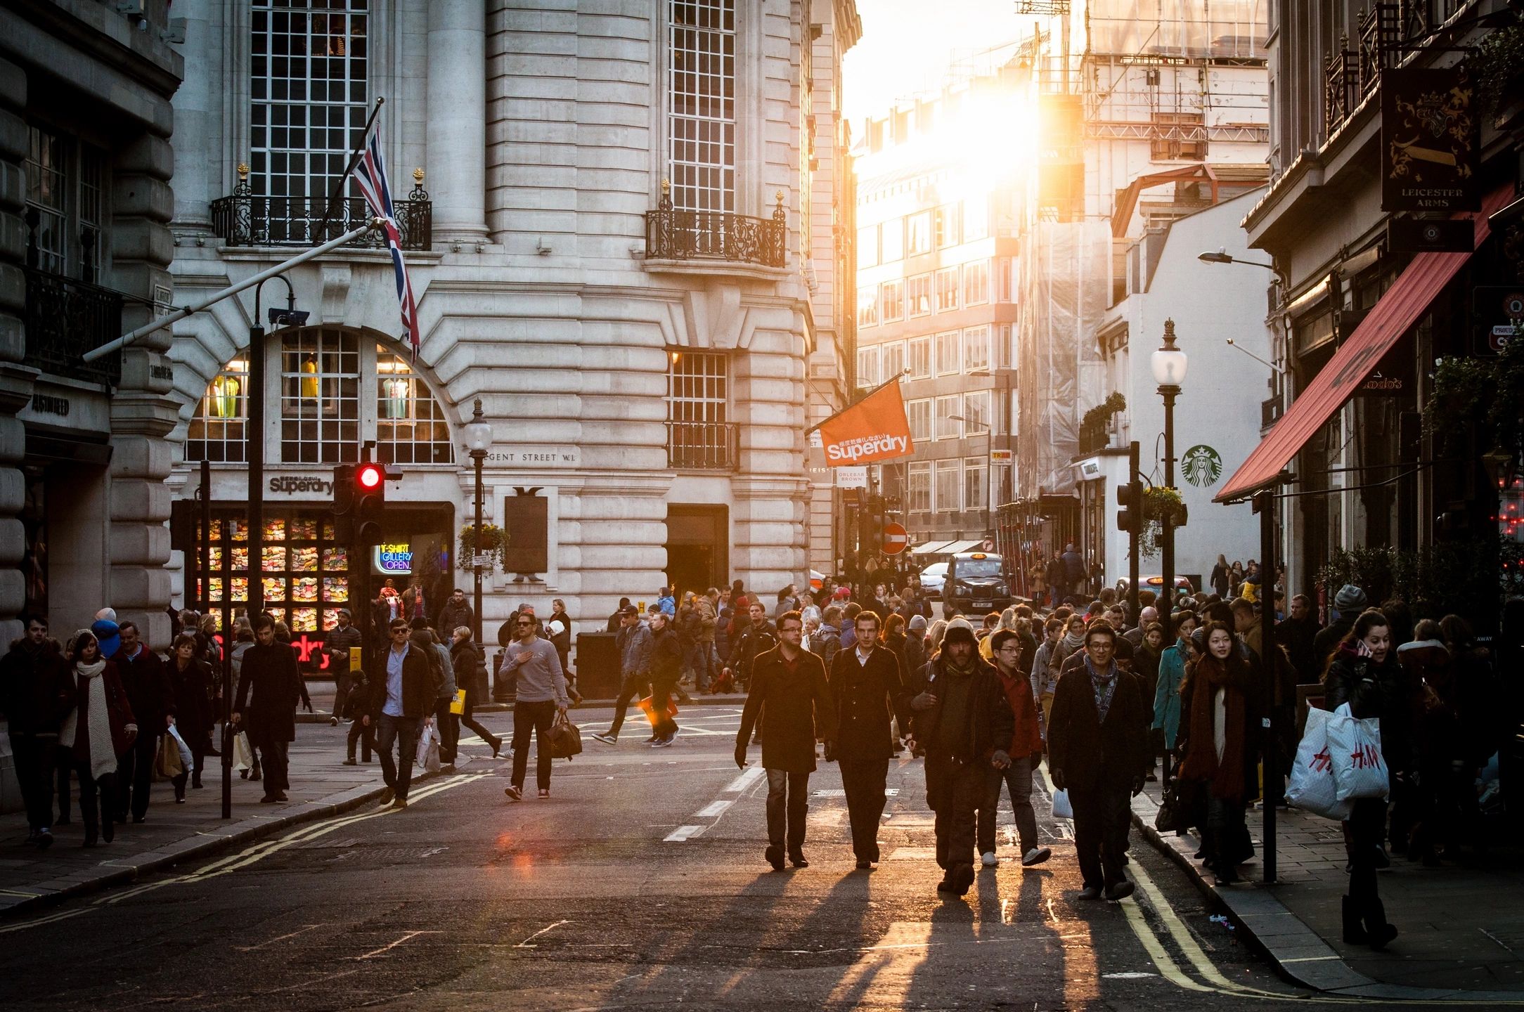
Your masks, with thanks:
M329 213L332 207L332 213ZM427 250L433 241L434 203L422 184L407 200L393 204L404 250ZM325 224L326 218L326 224ZM317 245L337 239L370 221L360 197L329 201L326 197L258 197L239 181L232 197L212 201L212 235L227 245ZM379 232L366 232L346 247L386 248Z

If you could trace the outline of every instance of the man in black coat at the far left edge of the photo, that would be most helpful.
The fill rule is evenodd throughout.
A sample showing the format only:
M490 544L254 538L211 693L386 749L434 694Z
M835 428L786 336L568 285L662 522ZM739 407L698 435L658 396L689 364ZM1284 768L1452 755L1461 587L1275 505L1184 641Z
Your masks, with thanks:
M75 680L58 643L47 639L47 619L32 616L26 636L0 658L0 712L11 732L15 779L26 802L26 841L53 843L53 767L58 730L75 709Z

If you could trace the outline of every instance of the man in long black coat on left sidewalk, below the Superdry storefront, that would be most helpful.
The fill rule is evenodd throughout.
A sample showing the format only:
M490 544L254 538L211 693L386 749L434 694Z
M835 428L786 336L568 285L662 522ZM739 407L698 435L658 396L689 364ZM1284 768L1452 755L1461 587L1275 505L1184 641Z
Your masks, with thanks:
M248 744L265 765L265 805L287 800L290 751L296 741L296 707L302 701L302 672L296 651L276 642L276 622L268 614L255 619L255 645L244 651L233 701L233 724L248 732ZM248 719L244 719L247 704Z

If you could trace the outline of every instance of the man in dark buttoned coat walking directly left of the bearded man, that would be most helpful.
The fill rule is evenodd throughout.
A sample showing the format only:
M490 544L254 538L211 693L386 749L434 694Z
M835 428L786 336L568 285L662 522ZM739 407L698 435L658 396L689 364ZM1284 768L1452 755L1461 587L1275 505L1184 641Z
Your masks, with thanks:
M835 652L829 674L837 701L835 759L852 820L852 852L860 870L878 861L878 823L884 817L884 785L893 754L890 719L910 727L910 695L899 657L878 645L878 616L860 611L856 645ZM828 753L826 759L832 754Z

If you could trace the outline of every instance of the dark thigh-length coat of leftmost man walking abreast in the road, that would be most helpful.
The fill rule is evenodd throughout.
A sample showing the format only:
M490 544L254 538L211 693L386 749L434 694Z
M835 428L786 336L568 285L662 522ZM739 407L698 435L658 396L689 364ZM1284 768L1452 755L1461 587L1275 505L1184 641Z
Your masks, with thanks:
M762 765L786 773L814 773L817 725L826 741L835 741L837 735L835 700L820 658L802 649L794 671L789 671L777 649L759 654L751 665L736 751L751 741L757 716L762 718ZM887 732L884 744L888 745Z

